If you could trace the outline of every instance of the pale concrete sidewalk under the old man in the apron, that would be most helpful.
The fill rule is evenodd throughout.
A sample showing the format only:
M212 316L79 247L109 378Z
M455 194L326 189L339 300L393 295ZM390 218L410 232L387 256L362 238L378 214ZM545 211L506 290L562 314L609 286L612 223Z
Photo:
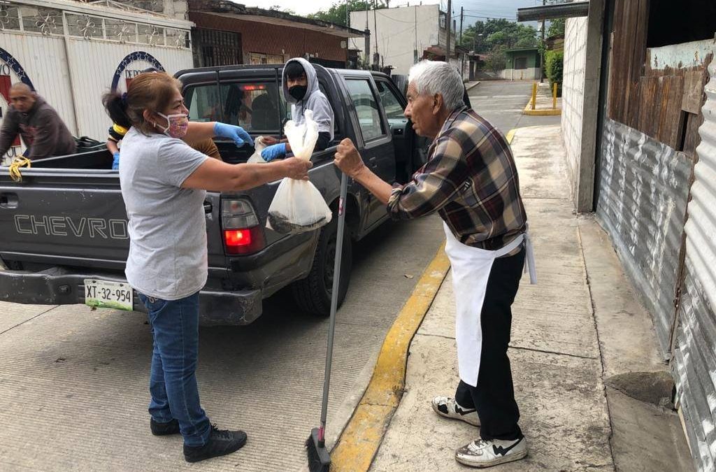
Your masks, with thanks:
M572 211L559 133L520 128L513 138L538 271L536 286L523 276L509 352L529 456L493 470L690 471L678 416L652 404L670 392L651 319L604 231ZM405 392L371 471L468 469L455 449L478 430L430 408L458 382L454 319L448 274L410 345Z

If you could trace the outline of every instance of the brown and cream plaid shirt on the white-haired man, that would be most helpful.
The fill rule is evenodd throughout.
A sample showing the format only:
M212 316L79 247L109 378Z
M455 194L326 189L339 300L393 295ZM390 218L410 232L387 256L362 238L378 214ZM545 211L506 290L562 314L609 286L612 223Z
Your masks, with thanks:
M526 230L515 160L505 137L472 109L455 110L428 149L428 160L395 184L392 219L437 211L463 244L495 251Z

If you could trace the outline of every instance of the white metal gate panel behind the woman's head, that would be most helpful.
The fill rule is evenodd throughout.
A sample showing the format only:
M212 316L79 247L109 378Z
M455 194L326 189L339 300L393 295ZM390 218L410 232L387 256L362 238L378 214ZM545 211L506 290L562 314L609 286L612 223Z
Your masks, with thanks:
M72 69L72 90L78 97L76 109L79 134L105 140L109 118L102 107L102 94L110 89L112 77L122 59L132 52L151 54L169 74L193 67L190 49L170 49L137 44L108 44L101 41L68 39L69 67ZM150 67L137 61L132 69Z

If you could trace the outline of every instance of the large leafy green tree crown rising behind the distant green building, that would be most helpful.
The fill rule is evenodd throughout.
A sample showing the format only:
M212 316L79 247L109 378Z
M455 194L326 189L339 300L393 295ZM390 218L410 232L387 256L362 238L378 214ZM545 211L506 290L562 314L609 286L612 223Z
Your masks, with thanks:
M476 21L463 31L460 46L475 49L480 54L491 53L495 46L502 46L504 49L536 47L537 30L503 18Z

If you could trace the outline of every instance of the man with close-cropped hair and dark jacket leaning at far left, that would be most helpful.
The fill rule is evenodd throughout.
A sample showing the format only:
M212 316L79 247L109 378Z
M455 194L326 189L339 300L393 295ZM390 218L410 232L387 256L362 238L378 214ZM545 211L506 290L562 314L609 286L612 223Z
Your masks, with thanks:
M0 156L10 149L17 135L25 143L25 155L31 160L73 154L77 150L72 133L54 108L22 82L10 87L10 109L0 128Z

